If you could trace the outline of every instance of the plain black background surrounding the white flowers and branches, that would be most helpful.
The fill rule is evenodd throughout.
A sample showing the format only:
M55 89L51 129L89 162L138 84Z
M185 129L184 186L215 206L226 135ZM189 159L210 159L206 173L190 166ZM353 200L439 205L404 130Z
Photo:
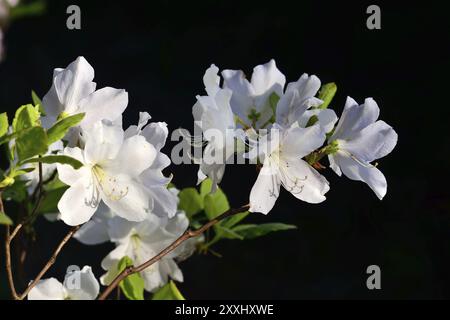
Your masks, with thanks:
M172 130L192 129L191 108L211 63L250 75L274 58L288 81L303 72L335 81L338 115L347 95L359 102L374 97L399 135L392 154L379 161L389 185L383 201L365 184L327 170L326 202L309 205L282 192L267 217L250 219L298 230L223 241L215 248L222 258L196 255L180 264L180 289L188 299L449 298L448 13L434 1L393 2L48 1L45 15L8 30L0 108L13 112L28 103L31 89L43 96L53 68L79 55L95 68L98 87L129 92L125 125L146 110ZM80 31L66 28L72 3L82 10ZM366 28L373 3L381 7L381 30ZM186 187L195 184L197 169L169 171ZM222 188L232 206L248 202L255 178L253 168L227 167ZM38 224L25 282L67 229L44 219ZM90 264L100 276L111 247L72 241L49 276L62 279L70 264ZM366 288L371 264L381 267L382 290Z

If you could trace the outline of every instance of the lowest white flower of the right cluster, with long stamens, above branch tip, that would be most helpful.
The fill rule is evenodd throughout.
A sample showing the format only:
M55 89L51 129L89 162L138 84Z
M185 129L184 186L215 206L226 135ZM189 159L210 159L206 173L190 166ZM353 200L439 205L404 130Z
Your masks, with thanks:
M324 201L328 181L302 160L325 141L322 128L316 124L283 129L275 124L265 138L257 146L263 167L250 193L250 211L267 214L279 196L280 185L300 200Z

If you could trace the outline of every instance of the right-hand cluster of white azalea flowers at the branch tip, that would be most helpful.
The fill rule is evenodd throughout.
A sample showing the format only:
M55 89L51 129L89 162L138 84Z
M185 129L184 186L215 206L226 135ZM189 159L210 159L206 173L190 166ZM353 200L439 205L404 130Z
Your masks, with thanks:
M372 98L359 105L348 97L338 121L327 108L331 98L326 92L317 96L321 82L315 75L303 74L286 85L271 60L256 66L250 81L242 71L223 70L221 86L218 71L215 65L206 70L207 95L198 96L193 107L195 123L207 140L200 181L210 177L217 186L230 157L248 158L260 167L250 211L267 214L281 186L300 200L324 201L330 187L318 169L324 168L319 160L328 156L338 175L363 181L378 198L384 197L386 179L372 162L393 150L397 134L377 120L379 108Z

